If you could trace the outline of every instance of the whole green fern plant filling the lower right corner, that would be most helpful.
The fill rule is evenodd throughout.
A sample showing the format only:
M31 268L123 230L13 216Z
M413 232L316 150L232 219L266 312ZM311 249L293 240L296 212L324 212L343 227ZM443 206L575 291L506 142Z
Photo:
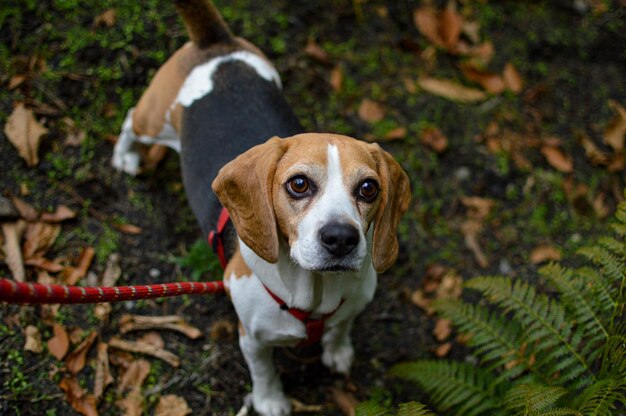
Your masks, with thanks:
M626 405L626 203L615 237L579 250L593 266L549 264L537 283L477 277L484 301L435 309L469 337L479 365L419 360L392 374L416 382L454 415L611 415ZM618 407L618 406L622 407Z

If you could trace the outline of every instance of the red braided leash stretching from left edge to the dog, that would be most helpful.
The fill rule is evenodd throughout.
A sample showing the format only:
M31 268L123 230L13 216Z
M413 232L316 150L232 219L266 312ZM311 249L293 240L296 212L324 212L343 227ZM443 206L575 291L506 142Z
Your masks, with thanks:
M157 285L80 287L20 283L0 279L0 302L99 303L154 299L180 295L203 295L224 291L224 282L176 282Z

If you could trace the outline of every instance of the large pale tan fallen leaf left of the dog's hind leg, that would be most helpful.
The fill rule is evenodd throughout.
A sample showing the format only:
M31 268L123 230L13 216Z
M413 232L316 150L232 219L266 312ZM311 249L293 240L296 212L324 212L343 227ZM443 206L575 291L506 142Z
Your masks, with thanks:
M39 163L39 143L48 129L35 119L32 110L19 103L7 119L4 133L28 166Z

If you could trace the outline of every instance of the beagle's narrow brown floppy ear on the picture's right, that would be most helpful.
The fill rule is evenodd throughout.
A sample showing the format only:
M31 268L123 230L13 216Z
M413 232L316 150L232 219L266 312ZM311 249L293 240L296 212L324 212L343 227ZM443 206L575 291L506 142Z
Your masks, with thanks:
M378 273L387 270L398 257L396 230L400 217L409 209L409 177L400 164L377 144L372 145L381 179L381 202L376 213L372 261Z

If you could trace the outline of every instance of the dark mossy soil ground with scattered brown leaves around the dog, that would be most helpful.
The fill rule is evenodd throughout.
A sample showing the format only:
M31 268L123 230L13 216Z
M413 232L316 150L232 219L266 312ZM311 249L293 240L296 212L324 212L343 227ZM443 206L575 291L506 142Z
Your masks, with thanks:
M341 400L333 399L331 388L344 398L385 404L423 398L387 372L395 363L431 357L440 347L435 319L412 301L429 266L463 278L532 278L542 261L533 253L552 258L556 249L557 257L570 261L577 247L604 231L623 198L624 151L603 142L616 108L626 105L623 1L456 2L459 15L475 28L462 39L471 47L490 42L488 61L450 42L437 45L420 32L414 12L426 2L216 3L233 31L275 62L287 100L307 130L379 140L411 178L413 202L399 230L400 257L380 276L374 301L356 322L351 378L324 369L315 348L277 354L287 393L323 405L319 413L340 413ZM440 10L446 2L432 3ZM449 35L449 22L442 25L440 34ZM110 166L126 111L185 41L168 2L23 0L1 6L0 124L24 103L48 133L35 166L0 133L0 192L41 211L63 204L77 213L62 223L48 258L71 263L93 247L90 270L101 275L110 255L119 253L120 284L219 278L213 258L200 275L206 248L197 243L176 155L166 154L156 169L136 178ZM472 80L463 71L468 66L482 75ZM481 83L485 70L501 74L507 66L523 86L495 91ZM425 78L487 95L469 103L445 98L429 93L420 82ZM364 109L364 100L374 102L374 109ZM129 224L140 232L129 232ZM27 267L28 279L37 273ZM10 276L0 264L0 277ZM141 390L147 413L166 394L183 397L194 415L240 409L250 381L229 335L236 317L226 297L115 304L104 322L93 306L64 306L55 321L84 333L95 330L98 341L108 342L126 313L177 314L205 334L189 340L159 331L181 365L149 359ZM23 350L27 325L37 327L44 341L52 337L50 322L41 317L39 307L0 306L0 413L74 412L58 387L67 374L64 362L47 351ZM448 354L462 358L463 347L451 346ZM95 356L93 348L77 376L86 391L93 391ZM112 371L121 376L121 369ZM126 393L118 385L119 379L105 390L100 414L120 412L116 401Z

